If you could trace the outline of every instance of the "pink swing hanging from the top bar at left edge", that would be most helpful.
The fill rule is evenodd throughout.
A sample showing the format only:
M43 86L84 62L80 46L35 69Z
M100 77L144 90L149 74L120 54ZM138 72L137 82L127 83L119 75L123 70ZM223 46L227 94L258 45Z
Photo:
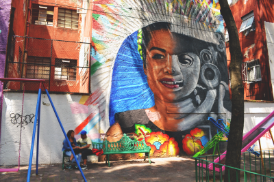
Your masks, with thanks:
M3 83L1 83L1 85L3 86ZM2 87L3 88L3 87ZM25 85L23 85L23 100L22 100L22 112L21 112L21 125L20 125L20 140L19 140L19 149L18 149L18 166L17 168L1 168L0 172L18 172L18 170L20 169L20 151L21 151L21 136L22 136L22 126L23 126L23 108L24 108L24 95L25 94ZM3 90L1 93L1 108L0 111L2 111L3 108ZM0 115L0 118L2 118L2 112ZM0 123L1 124L1 123ZM1 136L1 125L0 125L0 136Z

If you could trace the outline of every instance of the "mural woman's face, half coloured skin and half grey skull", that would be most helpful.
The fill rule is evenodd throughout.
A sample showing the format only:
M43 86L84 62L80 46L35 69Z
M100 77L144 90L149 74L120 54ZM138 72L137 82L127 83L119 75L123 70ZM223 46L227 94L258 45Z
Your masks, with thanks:
M175 102L189 95L197 86L200 59L191 51L192 43L168 29L152 32L147 46L144 69L155 97Z

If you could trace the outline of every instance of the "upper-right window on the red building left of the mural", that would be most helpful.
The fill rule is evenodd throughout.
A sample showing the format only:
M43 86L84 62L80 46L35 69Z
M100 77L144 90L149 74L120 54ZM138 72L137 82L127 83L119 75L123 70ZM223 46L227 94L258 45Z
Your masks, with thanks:
M78 29L79 16L75 10L58 9L58 27Z

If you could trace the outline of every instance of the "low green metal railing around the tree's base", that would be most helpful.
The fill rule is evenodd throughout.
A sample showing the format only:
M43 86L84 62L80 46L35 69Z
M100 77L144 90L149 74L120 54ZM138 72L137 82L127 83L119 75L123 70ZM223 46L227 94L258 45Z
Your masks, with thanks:
M274 153L273 150L257 151L260 156L253 155L251 152L245 152L241 155L240 168L225 166L225 161L215 163L220 155L203 155L195 158L195 175L196 181L224 181L225 170L227 174L236 170L236 181L272 181L274 182ZM231 174L231 173L230 173ZM228 181L231 176L228 177Z

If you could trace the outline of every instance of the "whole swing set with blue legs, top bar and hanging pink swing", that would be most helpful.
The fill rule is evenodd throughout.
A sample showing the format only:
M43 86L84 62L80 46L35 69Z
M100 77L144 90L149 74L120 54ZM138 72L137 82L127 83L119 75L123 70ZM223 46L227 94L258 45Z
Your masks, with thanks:
M38 90L38 98L37 98L37 104L36 104L36 112L35 112L35 119L34 119L34 130L32 133L32 147L30 150L30 154L29 154L29 168L27 170L27 182L29 182L30 180L30 176L31 176L31 170L32 170L32 157L33 157L33 153L34 153L34 140L35 140L35 134L36 134L36 126L37 126L37 148L36 148L36 175L38 175L38 155L39 155L39 133L40 133L40 105L41 105L41 93L42 93L42 87L45 89L45 92L47 93L47 97L49 98L49 102L51 103L51 106L53 108L53 111L55 113L56 118L58 119L58 122L60 124L60 127L62 129L62 132L64 134L64 137L66 138L66 140L69 143L69 147L71 148L71 152L73 153L73 157L76 159L77 157L75 156L75 153L73 151L73 148L71 146L71 142L69 142L69 138L68 136L66 136L66 132L64 131L64 127L60 121L60 118L58 116L57 111L55 110L55 107L53 105L53 102L51 100L51 97L49 96L49 91L47 91L46 87L45 87L45 81L44 79L24 79L24 78L0 78L1 82L22 82L23 83L23 102L22 102L22 112L21 112L21 127L20 127L20 140L19 140L19 149L18 149L18 167L17 168L1 168L0 172L18 172L18 170L20 169L20 151L21 151L21 136L22 136L22 127L23 127L23 106L24 106L24 95L25 95L25 82L39 82L39 90ZM3 85L3 83L2 83ZM0 107L0 111L1 111L1 115L2 115L2 107L3 107L3 91L1 94L1 107ZM0 118L1 118L0 115ZM0 136L1 136L1 123L0 123ZM75 160L75 162L77 163L77 166L81 172L81 175L84 179L84 181L86 181L86 177L84 176L84 173L82 171L82 168L79 164L79 162L77 160Z

